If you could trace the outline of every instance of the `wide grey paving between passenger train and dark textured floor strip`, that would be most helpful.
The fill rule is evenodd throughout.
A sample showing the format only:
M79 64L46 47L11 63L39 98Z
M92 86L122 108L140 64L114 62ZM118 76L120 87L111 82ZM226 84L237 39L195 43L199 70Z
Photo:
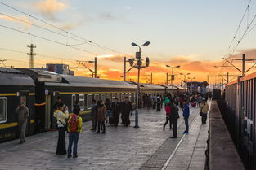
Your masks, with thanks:
M164 111L140 110L139 129L106 124L106 134L94 134L91 122L83 124L79 137L79 158L57 156L57 132L47 132L0 144L0 169L139 169L170 136L163 131ZM68 144L66 137L66 145Z

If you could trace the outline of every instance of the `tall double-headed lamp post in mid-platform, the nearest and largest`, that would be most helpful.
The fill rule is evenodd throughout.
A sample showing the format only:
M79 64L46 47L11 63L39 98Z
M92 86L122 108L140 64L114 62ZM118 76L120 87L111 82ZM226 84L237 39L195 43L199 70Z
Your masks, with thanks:
M150 59L146 57L146 66L141 66L141 47L150 45L150 41L146 41L141 46L138 46L136 43L132 42L132 46L138 46L139 51L136 52L136 59L129 59L130 66L132 68L137 68L137 100L136 100L136 112L135 112L135 126L134 128L139 128L139 120L138 120L138 113L139 113L139 93L140 93L140 72L141 68L146 68L150 65ZM134 61L136 61L136 65L134 65Z

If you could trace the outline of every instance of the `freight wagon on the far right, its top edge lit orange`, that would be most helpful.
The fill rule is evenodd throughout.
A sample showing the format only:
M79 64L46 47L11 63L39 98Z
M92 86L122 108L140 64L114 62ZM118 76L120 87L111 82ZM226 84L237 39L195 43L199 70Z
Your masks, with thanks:
M256 72L226 85L227 126L246 169L256 169Z

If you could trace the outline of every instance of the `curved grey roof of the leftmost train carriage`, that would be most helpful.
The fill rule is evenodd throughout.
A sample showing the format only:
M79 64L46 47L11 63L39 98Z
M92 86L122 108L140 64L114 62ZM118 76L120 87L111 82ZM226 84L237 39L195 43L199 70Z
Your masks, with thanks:
M0 68L0 85L34 86L34 81L19 70L13 68Z

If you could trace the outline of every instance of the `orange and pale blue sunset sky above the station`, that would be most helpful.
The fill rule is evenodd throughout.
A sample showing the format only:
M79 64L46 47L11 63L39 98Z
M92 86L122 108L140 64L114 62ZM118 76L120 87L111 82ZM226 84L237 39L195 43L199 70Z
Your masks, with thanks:
M8 67L12 65L28 68L27 45L33 43L37 46L34 49L37 54L34 56L34 68L45 67L45 63L66 63L73 68L75 75L90 76L87 69L75 68L78 65L76 60L92 60L97 57L97 72L101 78L122 80L123 57L132 58L138 50L131 43L141 45L150 41L149 46L142 47L142 57L150 58L150 67L141 71L142 82L148 81L150 72L153 72L153 82L164 84L166 72L171 73L171 69L165 67L166 64L180 65L181 68L175 69L175 74L191 73L187 77L195 77L196 81L206 81L208 74L240 74L234 68L219 69L213 66L222 65L222 58L229 56L225 54L245 13L249 2L247 0L0 2L24 12L15 11L0 3L0 59L7 59L4 64ZM252 1L236 34L237 41L255 15L256 2ZM253 20L250 28L255 24L256 20ZM256 59L255 37L256 28L253 28L236 50L227 54L231 53L234 55L232 57L239 58L245 53L246 58ZM93 43L85 43L86 41ZM237 41L231 44L231 49L236 46ZM241 66L238 62L234 64L239 68ZM247 63L246 67L249 68L252 64ZM0 65L2 66L4 65ZM93 68L93 65L88 64L88 67ZM250 70L255 71L255 68ZM210 83L220 81L210 77ZM182 78L183 76L177 76L175 83L180 83ZM137 80L136 69L128 73L128 79Z

